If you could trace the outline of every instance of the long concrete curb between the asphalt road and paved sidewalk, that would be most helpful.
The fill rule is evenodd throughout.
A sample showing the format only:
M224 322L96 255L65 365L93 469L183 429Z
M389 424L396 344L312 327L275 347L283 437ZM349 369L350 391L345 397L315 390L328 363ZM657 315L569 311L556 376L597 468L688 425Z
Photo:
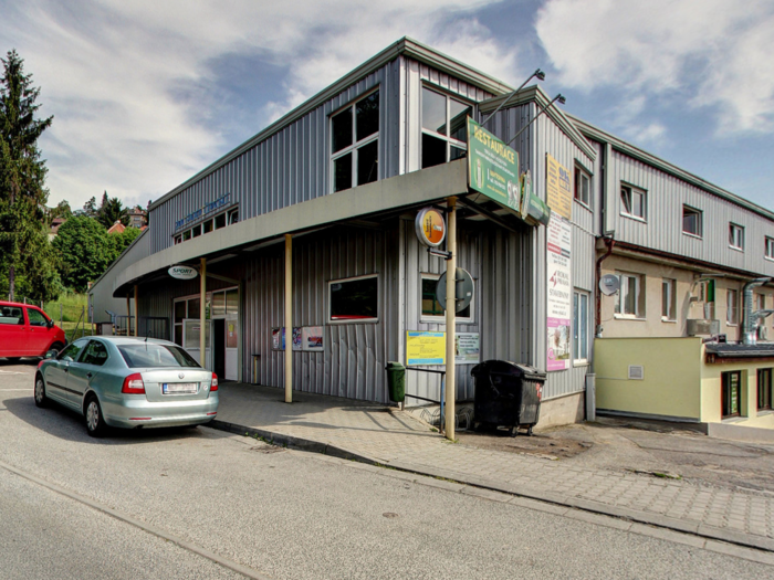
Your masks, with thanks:
M538 502L544 502L546 504L554 504L556 506L562 506L566 508L579 509L582 512L587 512L590 514L600 514L604 516L626 519L638 524L646 524L658 528L679 531L681 534L690 534L700 538L707 538L709 540L721 540L728 544L743 546L745 548L753 548L756 550L774 552L774 539L772 538L754 536L741 531L715 528L712 526L701 524L700 521L687 521L682 519L674 519L667 516L662 516L660 514L648 514L647 512L638 512L636 509L628 509L625 507L600 504L598 502L592 502L589 499L583 499L580 497L564 496L562 494L556 494L553 492L536 492L534 489L525 489L513 485L495 482L492 479L487 479L483 477L473 477L459 472L442 471L425 465L415 465L411 463L405 463L400 461L379 462L376 461L374 457L369 457L367 455L362 455L358 453L353 453L345 449L331 445L330 443L322 443L320 441L312 441L308 439L296 437L293 435L285 435L264 429L238 425L234 423L228 423L226 421L215 420L208 426L229 433L234 433L237 435L262 437L263 440L268 441L273 445L282 445L300 451L321 453L323 455L331 455L343 460L357 461L367 465L388 466L394 470L398 470L406 473L414 473L417 475L451 479L452 482L459 484L470 485L482 489L490 489L492 492L500 492L515 497L535 499Z

